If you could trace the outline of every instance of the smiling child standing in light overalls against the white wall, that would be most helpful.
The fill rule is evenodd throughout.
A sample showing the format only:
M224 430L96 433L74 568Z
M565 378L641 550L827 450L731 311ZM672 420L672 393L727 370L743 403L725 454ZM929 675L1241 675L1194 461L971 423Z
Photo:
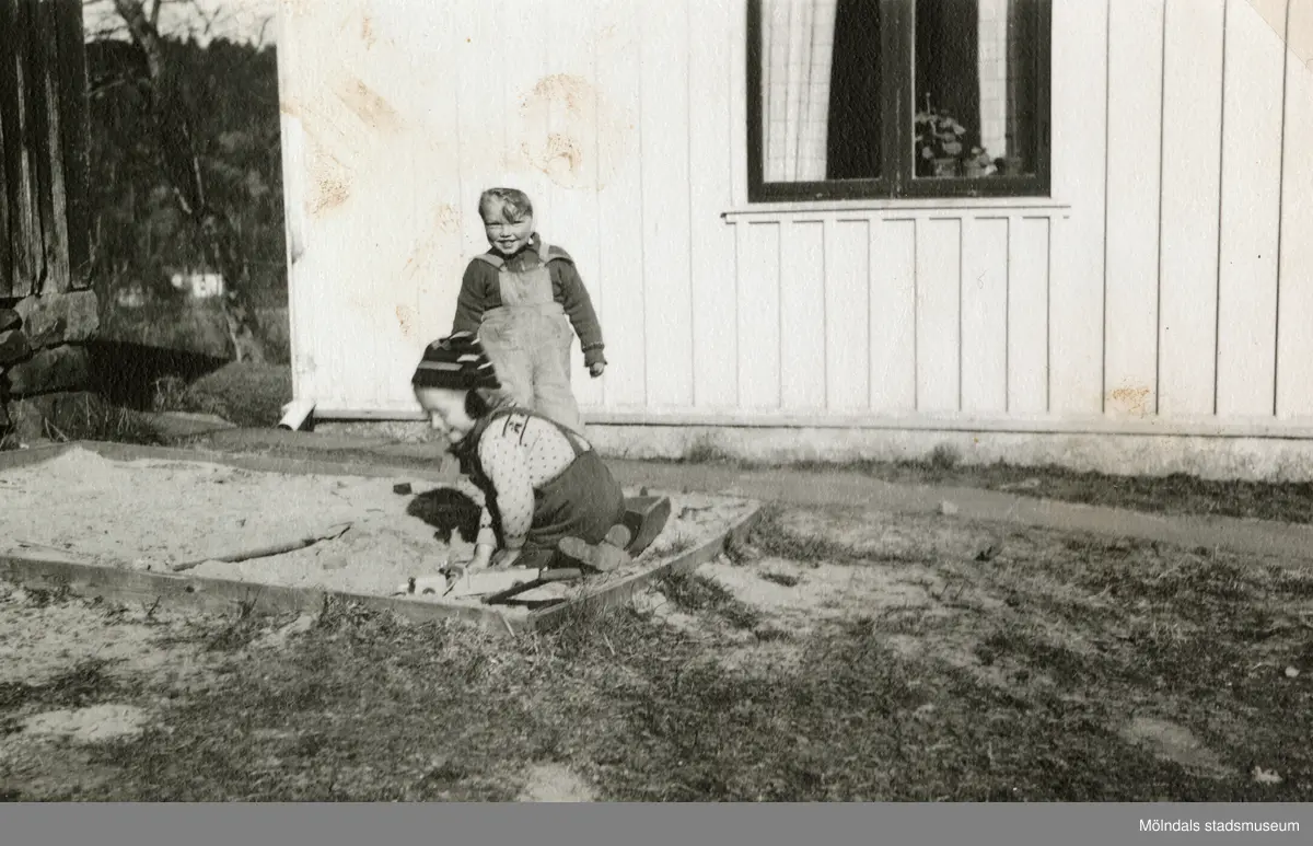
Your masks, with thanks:
M492 248L465 269L452 331L478 335L516 403L582 435L570 389L575 334L590 374L597 378L607 368L588 290L570 255L533 231L533 205L524 192L484 190L479 217Z

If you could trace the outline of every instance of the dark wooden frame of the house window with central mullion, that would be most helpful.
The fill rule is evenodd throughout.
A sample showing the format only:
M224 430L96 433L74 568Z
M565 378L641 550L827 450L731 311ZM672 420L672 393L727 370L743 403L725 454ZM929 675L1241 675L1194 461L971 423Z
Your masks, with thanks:
M880 3L880 99L886 120L881 122L881 177L815 183L767 183L762 126L762 0L747 0L747 188L748 202L809 202L832 200L941 200L972 197L1048 198L1053 145L1052 46L1053 4L1039 7L1041 38L1035 50L1037 126L1036 167L1027 176L914 177L914 50L915 0L873 0ZM893 116L893 120L888 120Z

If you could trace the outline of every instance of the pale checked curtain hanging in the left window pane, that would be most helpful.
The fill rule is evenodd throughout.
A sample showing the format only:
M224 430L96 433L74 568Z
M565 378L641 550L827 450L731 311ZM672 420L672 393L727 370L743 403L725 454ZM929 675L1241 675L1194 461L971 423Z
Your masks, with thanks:
M765 181L826 177L830 68L838 0L763 0Z

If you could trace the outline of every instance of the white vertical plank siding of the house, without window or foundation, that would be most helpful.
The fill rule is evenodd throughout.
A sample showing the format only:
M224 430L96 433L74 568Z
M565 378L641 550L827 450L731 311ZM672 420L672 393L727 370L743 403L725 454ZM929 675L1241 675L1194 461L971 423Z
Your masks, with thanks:
M762 209L742 0L285 4L289 205L349 183L306 215L298 390L412 411L507 183L601 315L591 412L1306 418L1313 0L1260 5L1054 0L1052 198Z

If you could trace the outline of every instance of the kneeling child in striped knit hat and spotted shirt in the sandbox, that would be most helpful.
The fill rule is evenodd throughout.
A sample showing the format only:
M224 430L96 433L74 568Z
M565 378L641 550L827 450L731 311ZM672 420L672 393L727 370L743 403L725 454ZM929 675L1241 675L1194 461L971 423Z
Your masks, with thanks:
M424 351L411 380L484 498L469 569L609 569L629 543L625 497L580 435L509 401L473 332Z

